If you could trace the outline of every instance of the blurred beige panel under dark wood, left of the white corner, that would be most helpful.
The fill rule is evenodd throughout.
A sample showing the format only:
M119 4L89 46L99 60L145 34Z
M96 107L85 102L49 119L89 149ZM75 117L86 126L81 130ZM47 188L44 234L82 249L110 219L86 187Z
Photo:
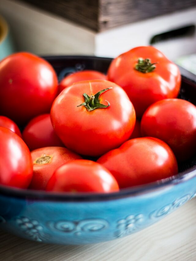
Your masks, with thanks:
M35 54L94 54L94 32L23 2L0 0L19 50Z

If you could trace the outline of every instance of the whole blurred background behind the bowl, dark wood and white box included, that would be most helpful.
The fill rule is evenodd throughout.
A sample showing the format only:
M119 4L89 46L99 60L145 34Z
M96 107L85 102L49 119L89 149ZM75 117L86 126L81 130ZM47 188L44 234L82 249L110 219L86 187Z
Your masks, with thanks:
M0 0L0 59L38 55L116 57L153 45L196 74L195 0Z

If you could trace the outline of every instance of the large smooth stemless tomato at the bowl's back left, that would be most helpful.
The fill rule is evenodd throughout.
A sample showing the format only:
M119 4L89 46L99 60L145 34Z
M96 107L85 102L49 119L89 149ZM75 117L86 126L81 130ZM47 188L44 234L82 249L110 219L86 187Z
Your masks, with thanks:
M0 113L18 124L48 113L57 94L52 66L29 53L16 53L0 62Z

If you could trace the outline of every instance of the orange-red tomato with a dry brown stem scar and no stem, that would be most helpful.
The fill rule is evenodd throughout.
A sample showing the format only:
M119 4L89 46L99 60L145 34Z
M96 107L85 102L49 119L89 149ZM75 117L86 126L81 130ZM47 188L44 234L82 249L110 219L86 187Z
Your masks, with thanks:
M54 171L64 163L81 157L63 147L45 147L31 152L33 177L29 188L45 190Z

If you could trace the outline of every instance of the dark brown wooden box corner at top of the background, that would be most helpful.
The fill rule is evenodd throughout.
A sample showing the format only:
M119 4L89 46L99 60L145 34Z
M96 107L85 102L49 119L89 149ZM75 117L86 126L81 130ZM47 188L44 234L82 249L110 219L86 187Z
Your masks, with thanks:
M196 6L195 0L23 0L96 32Z

